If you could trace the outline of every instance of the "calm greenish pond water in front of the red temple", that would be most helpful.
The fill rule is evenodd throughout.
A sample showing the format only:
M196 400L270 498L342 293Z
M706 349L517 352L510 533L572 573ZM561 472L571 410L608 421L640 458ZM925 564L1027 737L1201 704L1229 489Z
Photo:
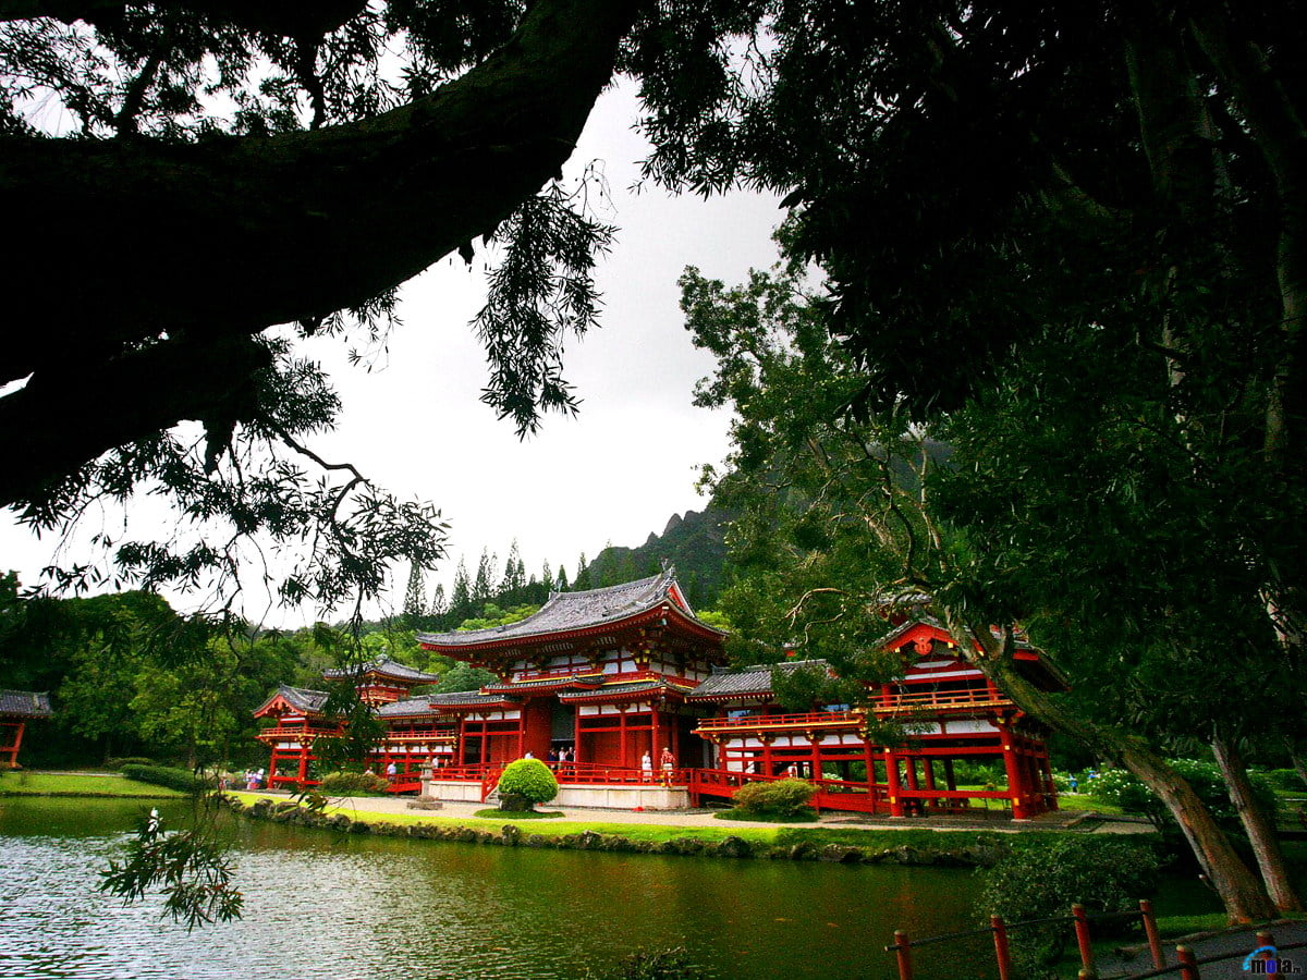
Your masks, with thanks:
M186 813L161 809L169 821ZM244 919L187 934L157 900L123 907L95 890L144 810L0 798L0 977L562 980L635 949L685 946L721 980L880 980L895 976L882 951L895 928L970 924L978 885L965 870L477 847L227 819ZM984 976L963 949L950 954L946 975Z

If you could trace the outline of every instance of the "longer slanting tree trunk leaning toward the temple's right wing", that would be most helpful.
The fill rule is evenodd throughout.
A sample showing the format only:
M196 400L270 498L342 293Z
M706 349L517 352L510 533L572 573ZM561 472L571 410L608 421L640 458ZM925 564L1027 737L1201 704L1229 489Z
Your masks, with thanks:
M997 683L1026 713L1085 743L1093 751L1120 762L1166 805L1193 849L1199 865L1225 906L1231 924L1264 921L1276 908L1248 866L1230 845L1221 827L1202 805L1193 787L1153 751L1138 736L1119 732L1081 717L1059 704L1046 691L1017 673L1010 653L988 626L958 623L945 612L950 632L962 651L989 679ZM979 642L980 653L972 653Z

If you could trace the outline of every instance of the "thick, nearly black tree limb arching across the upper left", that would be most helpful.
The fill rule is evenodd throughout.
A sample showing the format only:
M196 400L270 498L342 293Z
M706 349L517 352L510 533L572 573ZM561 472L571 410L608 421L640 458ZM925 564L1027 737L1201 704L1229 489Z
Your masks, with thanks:
M7 459L24 461L0 503L170 423L150 384L98 391L137 346L359 306L494 229L571 154L637 5L541 0L468 74L350 125L197 145L0 137L0 210L22 243L0 268L0 380L33 375L0 400ZM209 372L188 370L167 380L195 383L180 417L204 417ZM93 391L119 417L94 438L51 401Z

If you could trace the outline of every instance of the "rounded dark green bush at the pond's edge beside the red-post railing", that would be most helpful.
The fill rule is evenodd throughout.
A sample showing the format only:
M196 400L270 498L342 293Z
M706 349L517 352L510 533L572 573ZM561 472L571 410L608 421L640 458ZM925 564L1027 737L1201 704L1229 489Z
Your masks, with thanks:
M1089 913L1138 908L1157 890L1159 862L1146 844L1107 838L1063 836L1048 847L1013 851L984 872L976 909L1012 924L1070 915L1073 904ZM1120 933L1120 924L1095 925L1098 936ZM1069 923L1010 933L1013 959L1023 976L1047 976L1072 934Z

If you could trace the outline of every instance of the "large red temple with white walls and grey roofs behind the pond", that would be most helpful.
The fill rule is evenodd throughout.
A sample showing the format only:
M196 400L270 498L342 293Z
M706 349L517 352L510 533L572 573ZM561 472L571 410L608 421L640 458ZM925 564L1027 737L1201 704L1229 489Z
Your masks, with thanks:
M410 696L435 677L393 661L328 677L356 678L374 703L387 730L374 759L397 763L392 788L418 788L421 771L422 788L446 800L485 800L506 763L532 755L554 767L559 805L674 809L797 776L817 784L821 809L911 817L980 804L1016 819L1056 809L1043 727L929 617L914 613L880 642L902 672L865 706L804 713L776 703L772 670L826 670L825 661L728 669L724 639L668 571L554 595L508 626L418 636L425 649L497 674L478 691ZM1040 689L1065 687L1029 644L1018 643L1016 659ZM259 710L278 719L260 736L273 747L274 784L311 781L312 738L339 733L320 715L325 699L282 687ZM885 723L901 723L901 737L878 734ZM961 760L999 763L1006 785L959 788Z

